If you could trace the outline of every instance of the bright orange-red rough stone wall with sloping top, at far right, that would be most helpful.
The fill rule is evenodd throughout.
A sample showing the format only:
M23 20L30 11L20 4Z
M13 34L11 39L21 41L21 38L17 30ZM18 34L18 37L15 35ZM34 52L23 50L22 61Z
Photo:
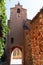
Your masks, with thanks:
M33 65L43 65L43 15L31 23L31 46Z

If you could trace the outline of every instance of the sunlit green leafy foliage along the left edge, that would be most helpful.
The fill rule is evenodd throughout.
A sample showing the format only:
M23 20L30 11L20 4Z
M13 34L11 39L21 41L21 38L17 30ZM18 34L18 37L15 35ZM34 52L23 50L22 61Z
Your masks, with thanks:
M2 37L0 37L0 57L2 56L5 47L4 45L4 37L6 32L8 31L8 27L6 24L6 7L5 7L5 0L0 0L0 25L2 26ZM1 29L0 29L1 30Z

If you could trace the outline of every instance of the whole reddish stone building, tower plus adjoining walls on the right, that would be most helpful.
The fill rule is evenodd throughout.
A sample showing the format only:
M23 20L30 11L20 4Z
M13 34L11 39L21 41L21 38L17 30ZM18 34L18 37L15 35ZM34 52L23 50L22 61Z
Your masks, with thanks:
M22 65L43 65L43 8L30 20L27 19L27 10L18 3L10 9L8 27L10 32L5 47L7 65L16 48L22 52Z

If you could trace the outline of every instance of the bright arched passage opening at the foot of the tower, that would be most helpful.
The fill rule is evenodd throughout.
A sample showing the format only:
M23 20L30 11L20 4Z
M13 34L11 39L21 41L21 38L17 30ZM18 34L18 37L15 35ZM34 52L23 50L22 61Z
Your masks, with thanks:
M11 53L11 59L10 59L10 65L16 64L16 65L23 65L22 64L22 50L20 48L14 48L12 53Z

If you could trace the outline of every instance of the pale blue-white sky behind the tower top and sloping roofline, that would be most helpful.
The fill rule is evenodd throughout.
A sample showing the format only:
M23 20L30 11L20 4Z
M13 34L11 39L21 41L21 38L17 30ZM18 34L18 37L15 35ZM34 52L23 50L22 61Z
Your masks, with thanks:
M7 19L10 19L10 8L15 7L18 1L23 5L23 8L27 9L28 19L33 19L43 7L43 0L6 0Z

